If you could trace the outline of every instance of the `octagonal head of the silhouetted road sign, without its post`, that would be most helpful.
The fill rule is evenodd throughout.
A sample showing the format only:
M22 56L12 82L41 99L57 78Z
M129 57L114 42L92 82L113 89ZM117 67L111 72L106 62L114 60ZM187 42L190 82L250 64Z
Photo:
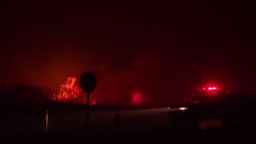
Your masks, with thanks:
M90 71L85 71L82 76L80 76L79 86L84 92L91 93L96 88L96 76Z

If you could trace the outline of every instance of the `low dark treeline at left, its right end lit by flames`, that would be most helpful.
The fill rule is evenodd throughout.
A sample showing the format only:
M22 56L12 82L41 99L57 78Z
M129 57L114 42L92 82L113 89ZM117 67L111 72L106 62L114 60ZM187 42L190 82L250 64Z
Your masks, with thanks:
M83 93L77 91L57 85L49 88L27 85L0 86L0 102L7 104L49 102L79 104Z

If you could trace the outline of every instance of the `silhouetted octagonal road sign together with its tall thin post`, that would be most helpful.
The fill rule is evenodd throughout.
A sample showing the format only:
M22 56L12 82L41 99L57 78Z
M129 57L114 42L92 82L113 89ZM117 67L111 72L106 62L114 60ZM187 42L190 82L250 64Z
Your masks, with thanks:
M87 93L87 117L86 117L86 131L89 131L89 106L90 106L90 93L96 88L96 76L91 71L85 71L80 76L79 86Z

